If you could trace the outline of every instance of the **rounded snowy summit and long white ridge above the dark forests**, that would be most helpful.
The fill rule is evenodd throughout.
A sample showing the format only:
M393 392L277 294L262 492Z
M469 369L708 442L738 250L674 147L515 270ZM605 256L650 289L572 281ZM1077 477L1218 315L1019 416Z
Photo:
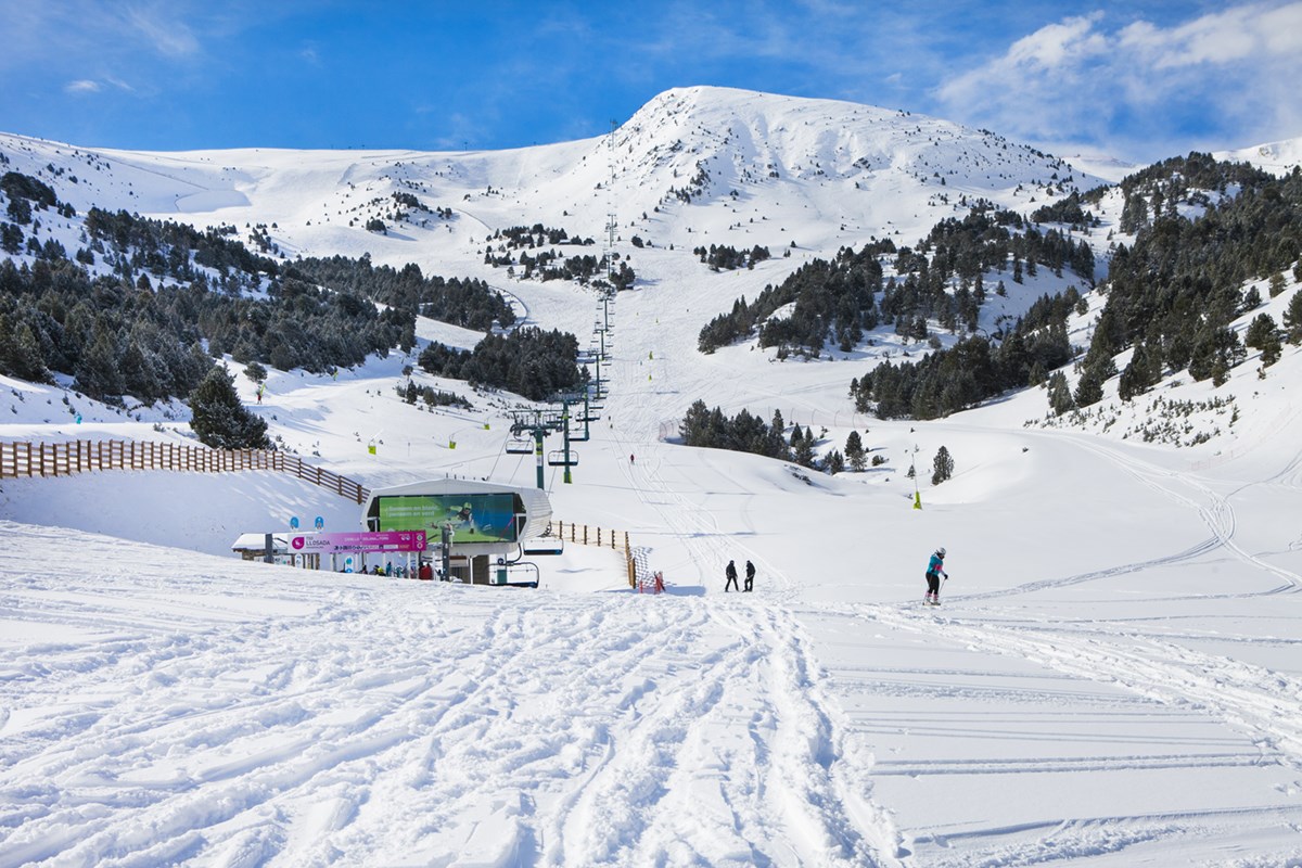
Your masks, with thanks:
M12 169L65 200L199 226L275 226L289 254L367 250L376 262L473 264L486 233L512 225L652 245L835 251L871 236L915 241L963 197L1009 207L1103 183L1062 160L909 112L717 87L652 99L611 135L500 152L125 152L0 137ZM72 182L72 178L77 178ZM1052 187L1052 189L1051 189ZM393 193L452 220L363 229ZM681 195L680 195L681 194ZM685 200L690 197L690 202ZM352 225L350 225L352 224Z

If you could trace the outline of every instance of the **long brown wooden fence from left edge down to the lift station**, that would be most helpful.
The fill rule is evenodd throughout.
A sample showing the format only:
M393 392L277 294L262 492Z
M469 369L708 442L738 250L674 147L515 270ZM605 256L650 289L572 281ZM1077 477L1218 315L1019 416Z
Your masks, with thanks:
M70 440L65 442L0 442L0 479L70 476L99 470L174 470L237 474L266 470L289 474L357 504L370 491L359 483L303 463L297 455L264 449L208 449L177 442L138 440Z

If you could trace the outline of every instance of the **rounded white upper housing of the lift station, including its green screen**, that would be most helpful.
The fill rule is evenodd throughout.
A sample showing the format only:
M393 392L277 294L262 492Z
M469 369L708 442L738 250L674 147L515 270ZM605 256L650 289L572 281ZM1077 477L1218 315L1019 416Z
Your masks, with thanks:
M466 511L458 515L462 508ZM475 544L475 550L490 550L543 536L551 527L552 504L540 488L431 479L372 489L362 504L361 519L367 530L434 531L435 523L457 523L458 548ZM404 523L411 527L400 527Z

